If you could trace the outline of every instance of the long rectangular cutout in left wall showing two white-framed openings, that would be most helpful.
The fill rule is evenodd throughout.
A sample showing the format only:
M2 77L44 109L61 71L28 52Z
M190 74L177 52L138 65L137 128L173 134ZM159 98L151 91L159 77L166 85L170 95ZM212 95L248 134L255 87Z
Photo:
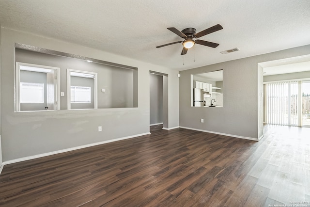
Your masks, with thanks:
M31 105L32 107L39 106L40 104L36 102L34 102L36 104L20 104L20 83L18 83L19 85L16 87L16 111L138 107L138 68L136 67L109 63L93 58L22 44L16 44L15 53L16 63L46 65L45 67L47 67L47 69L58 68L57 76L59 77L57 79L58 84L57 88L55 88L56 94L54 99L55 103L57 102L57 105L54 109L50 104L44 106L43 110L41 108L26 108L28 105ZM70 69L71 72L67 73L67 69ZM27 71L18 69L18 71L16 70L16 82L20 79L19 71L22 71L22 79L23 77L26 77L26 75L23 75L24 71L26 71L25 74L29 73L29 77L31 77L30 73L36 74L35 76L42 76L43 73L47 73L46 71ZM95 75L91 77L93 74ZM48 81L48 79L46 81ZM46 81L44 81L44 90L48 92L51 91L51 88L48 88L51 84ZM34 85L35 82L31 82L30 80L28 82L32 83L32 85L30 86L28 84L27 86L23 83L22 90L24 92L30 92L30 88L32 87L36 88L36 90L32 89L32 93L39 94L39 88L42 88L42 85ZM68 89L68 82L70 82L70 90ZM47 101L44 103L46 105L51 102L48 101L48 97L50 96L45 94ZM91 98L90 102L85 99L86 97Z

